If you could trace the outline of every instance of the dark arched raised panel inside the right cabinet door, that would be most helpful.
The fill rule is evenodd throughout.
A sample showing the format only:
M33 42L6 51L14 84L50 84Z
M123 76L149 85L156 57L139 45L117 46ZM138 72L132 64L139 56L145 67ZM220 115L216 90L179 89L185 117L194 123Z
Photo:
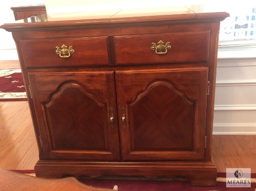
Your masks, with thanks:
M196 103L197 101L189 100L185 92L177 89L171 82L155 81L148 84L128 104L130 136L134 140L131 142L131 152L149 148L193 151L195 143L191 134L195 128L193 116L197 112ZM151 117L147 119L149 115Z

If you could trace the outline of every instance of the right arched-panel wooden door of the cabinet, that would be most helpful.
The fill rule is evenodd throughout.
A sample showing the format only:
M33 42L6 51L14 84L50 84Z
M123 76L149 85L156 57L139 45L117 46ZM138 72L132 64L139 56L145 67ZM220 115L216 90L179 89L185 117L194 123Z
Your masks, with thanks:
M116 73L124 160L204 156L208 68Z

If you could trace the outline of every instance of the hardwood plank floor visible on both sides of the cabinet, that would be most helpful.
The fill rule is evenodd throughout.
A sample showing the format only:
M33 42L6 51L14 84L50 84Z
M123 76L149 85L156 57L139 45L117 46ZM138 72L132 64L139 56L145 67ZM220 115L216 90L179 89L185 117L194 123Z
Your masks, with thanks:
M0 69L19 68L0 61ZM256 173L256 135L214 135L212 159L218 172L226 168L251 168ZM0 168L34 169L38 150L27 101L0 102Z

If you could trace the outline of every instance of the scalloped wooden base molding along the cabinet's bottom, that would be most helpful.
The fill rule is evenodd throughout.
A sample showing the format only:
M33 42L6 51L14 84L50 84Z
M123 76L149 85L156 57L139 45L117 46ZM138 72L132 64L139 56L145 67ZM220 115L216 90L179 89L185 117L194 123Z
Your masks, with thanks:
M39 160L35 174L42 178L61 178L87 175L127 175L156 177L184 177L194 186L215 186L217 169L213 162L94 162L94 161L47 161Z

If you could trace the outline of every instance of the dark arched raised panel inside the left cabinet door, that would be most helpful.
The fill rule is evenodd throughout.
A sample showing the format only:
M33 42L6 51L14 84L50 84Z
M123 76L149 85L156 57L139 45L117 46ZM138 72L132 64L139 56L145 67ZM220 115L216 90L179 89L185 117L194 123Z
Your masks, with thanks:
M75 96L74 96L75 95ZM51 143L51 152L58 150L94 149L109 151L106 147L107 119L104 119L106 103L90 93L85 86L77 82L66 82L60 85L47 100L42 103L42 110L47 121L47 132ZM88 115L88 111L91 114ZM93 119L97 117L97 124ZM91 128L94 126L94 128ZM97 143L94 140L97 139Z

